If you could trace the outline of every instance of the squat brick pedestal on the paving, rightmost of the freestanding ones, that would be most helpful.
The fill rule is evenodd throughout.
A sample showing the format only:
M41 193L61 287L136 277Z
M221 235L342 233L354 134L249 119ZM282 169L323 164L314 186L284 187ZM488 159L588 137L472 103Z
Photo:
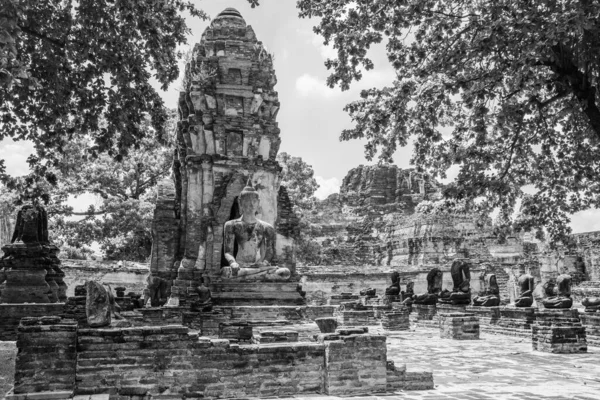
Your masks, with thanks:
M535 312L531 328L533 350L548 353L586 353L586 330L575 309L545 309Z

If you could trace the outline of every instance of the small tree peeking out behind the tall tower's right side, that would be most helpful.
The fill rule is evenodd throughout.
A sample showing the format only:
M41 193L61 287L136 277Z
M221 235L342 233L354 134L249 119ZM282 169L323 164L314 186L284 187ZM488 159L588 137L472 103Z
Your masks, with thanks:
M281 184L287 189L292 204L299 209L312 208L315 191L319 188L312 166L302 158L293 157L285 152L277 155L277 161L283 168Z

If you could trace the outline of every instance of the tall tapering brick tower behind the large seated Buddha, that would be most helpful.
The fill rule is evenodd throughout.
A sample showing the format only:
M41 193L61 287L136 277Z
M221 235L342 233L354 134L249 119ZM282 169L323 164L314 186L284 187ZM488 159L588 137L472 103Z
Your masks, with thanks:
M260 197L257 218L275 227L276 261L291 271L288 285L295 288L297 221L275 161L280 104L272 55L241 15L227 9L194 47L184 80L173 179L161 183L155 213L152 275L167 280L182 300L201 277L223 301L220 292L233 295L235 288L215 286L226 265L223 227L240 216L238 196L250 183ZM280 289L265 283L261 298ZM301 302L296 295L288 300Z

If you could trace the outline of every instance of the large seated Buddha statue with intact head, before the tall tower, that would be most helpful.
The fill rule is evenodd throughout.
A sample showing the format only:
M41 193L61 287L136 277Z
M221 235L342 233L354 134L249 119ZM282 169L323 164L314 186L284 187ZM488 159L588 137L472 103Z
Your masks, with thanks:
M248 185L242 190L238 202L241 217L225 223L224 255L228 265L221 269L221 277L287 281L291 276L290 270L272 265L275 262L275 228L256 218L260 205L258 192Z

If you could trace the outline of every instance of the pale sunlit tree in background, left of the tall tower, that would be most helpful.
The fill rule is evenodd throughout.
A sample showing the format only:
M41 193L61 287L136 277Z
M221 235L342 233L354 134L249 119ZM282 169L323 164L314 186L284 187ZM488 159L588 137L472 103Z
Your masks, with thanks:
M171 121L175 111L171 111ZM152 218L156 185L172 168L169 139L154 139L148 119L138 149L121 161L108 154L93 157L85 149L89 139L63 149L52 194L49 216L53 238L65 249L83 250L96 242L107 259L145 261L152 247ZM73 210L70 196L92 194L97 204ZM76 218L72 218L76 217Z

